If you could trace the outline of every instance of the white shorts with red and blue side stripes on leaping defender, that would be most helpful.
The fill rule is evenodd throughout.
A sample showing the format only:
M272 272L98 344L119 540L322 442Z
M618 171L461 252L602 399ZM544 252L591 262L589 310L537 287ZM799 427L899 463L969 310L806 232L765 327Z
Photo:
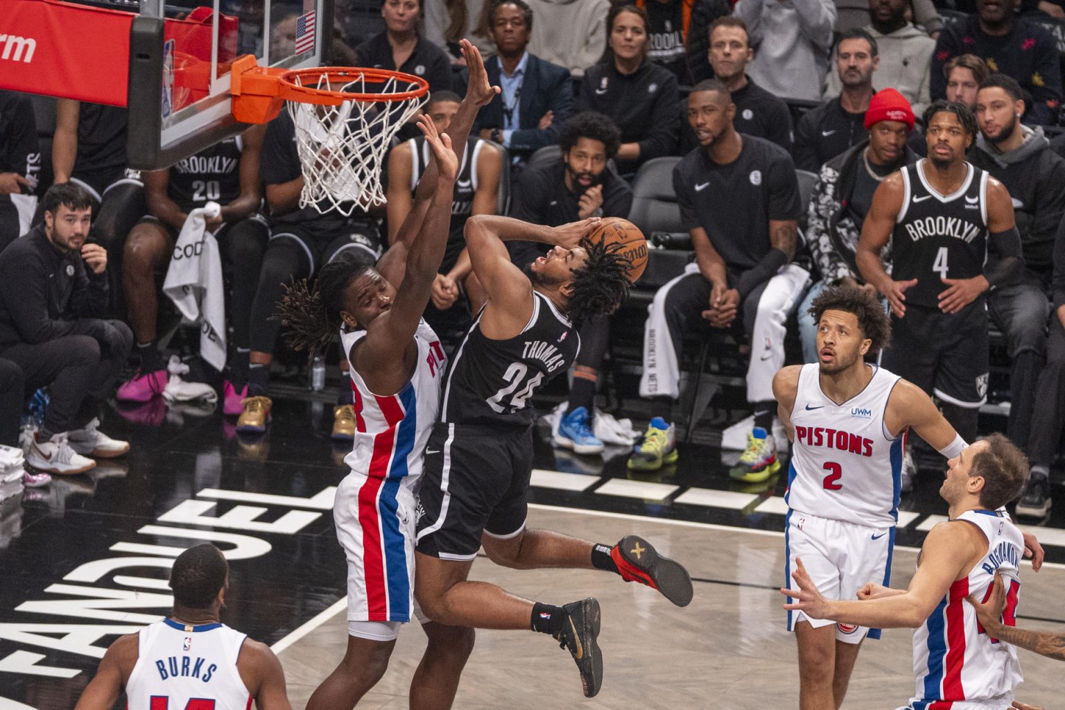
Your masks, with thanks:
M349 473L333 521L347 558L347 621L409 622L414 610L414 494L400 479Z

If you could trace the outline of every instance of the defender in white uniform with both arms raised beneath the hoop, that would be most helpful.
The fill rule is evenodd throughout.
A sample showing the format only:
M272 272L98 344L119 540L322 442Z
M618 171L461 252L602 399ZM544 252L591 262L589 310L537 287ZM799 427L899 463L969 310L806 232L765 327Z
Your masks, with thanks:
M341 329L357 425L345 459L351 472L333 506L348 563L347 650L311 695L310 710L353 708L384 675L399 627L414 611L414 491L446 366L422 313L447 244L459 170L453 141L461 150L478 108L498 90L488 83L476 48L461 45L470 67L466 99L452 122L453 135L439 135L427 116L419 120L432 161L396 242L376 268L342 255L322 268L316 293L297 287L282 301L283 316L297 330L297 348L322 347ZM411 703L450 707L473 631L432 623L423 628L432 667L444 672L435 676L436 684L421 683L420 668Z

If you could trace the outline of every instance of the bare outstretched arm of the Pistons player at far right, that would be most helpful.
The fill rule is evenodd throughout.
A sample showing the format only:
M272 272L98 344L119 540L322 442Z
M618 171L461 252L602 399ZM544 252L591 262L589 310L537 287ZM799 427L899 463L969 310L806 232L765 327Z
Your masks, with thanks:
M828 599L814 584L801 559L791 574L793 588L781 589L792 601L784 608L871 628L917 628L924 623L970 564L977 546L966 524L940 523L932 528L921 548L921 563L903 594L882 594L866 599Z

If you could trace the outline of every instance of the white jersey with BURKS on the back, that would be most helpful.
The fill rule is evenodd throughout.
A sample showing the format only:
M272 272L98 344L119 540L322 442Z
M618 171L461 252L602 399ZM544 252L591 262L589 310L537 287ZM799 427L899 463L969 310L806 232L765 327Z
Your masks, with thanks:
M248 710L251 696L236 668L247 635L225 624L191 626L170 618L138 633L126 684L127 710Z

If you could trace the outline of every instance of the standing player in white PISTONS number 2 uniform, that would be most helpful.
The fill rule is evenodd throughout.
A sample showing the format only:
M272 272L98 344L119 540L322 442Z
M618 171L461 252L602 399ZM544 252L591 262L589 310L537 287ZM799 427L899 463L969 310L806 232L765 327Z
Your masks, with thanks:
M890 582L902 478L903 432L913 429L948 459L965 442L920 387L866 363L891 326L865 288L832 286L809 309L817 363L773 378L781 420L792 442L785 527L785 579L801 557L818 592L853 599L868 582ZM799 707L838 708L862 642L880 629L788 612L799 645Z

